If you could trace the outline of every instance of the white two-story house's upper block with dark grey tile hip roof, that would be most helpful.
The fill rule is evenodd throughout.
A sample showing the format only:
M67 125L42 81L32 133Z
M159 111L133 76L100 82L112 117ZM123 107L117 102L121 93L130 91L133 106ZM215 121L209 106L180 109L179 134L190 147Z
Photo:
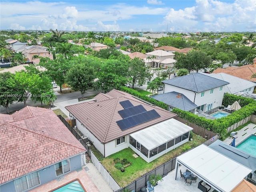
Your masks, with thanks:
M226 81L201 73L188 74L168 80L164 83L163 93L184 94L198 106L198 110L207 112L222 105Z

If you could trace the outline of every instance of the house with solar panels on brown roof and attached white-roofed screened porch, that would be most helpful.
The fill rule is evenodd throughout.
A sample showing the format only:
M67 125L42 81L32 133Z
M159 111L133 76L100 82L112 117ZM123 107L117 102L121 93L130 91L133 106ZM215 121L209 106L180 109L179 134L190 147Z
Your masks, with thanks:
M130 147L150 162L188 142L192 128L174 113L114 89L95 99L66 109L104 157Z

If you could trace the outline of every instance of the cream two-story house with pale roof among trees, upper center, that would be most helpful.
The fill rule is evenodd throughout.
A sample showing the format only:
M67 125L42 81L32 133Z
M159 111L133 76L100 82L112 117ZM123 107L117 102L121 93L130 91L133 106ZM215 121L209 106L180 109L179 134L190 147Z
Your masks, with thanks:
M171 52L166 52L164 50L155 50L146 53L147 57L144 59L145 63L149 67L162 67L162 68L172 68L176 60L174 60L174 55Z

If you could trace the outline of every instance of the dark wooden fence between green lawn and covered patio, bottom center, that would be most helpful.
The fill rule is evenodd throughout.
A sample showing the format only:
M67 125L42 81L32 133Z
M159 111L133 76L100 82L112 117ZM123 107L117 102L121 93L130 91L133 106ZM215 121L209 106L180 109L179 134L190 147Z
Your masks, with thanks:
M161 176L166 176L168 172L175 169L176 158L166 162L165 164L159 166L158 168L148 172L147 174L141 176L140 178L136 179L134 182L130 183L128 186L117 190L116 192L124 192L125 189L127 191L140 191L140 188L147 186L147 181L149 180L150 175L157 175L160 174Z

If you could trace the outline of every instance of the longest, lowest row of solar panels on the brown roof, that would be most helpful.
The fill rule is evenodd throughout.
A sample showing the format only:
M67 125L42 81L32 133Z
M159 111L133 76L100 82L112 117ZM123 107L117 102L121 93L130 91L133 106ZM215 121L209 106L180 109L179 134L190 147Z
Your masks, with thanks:
M128 118L124 118L120 121L117 121L116 123L118 124L120 129L123 131L128 128L134 127L136 125L156 119L158 117L160 117L160 115L153 109L153 110L146 111L134 116L130 116Z

